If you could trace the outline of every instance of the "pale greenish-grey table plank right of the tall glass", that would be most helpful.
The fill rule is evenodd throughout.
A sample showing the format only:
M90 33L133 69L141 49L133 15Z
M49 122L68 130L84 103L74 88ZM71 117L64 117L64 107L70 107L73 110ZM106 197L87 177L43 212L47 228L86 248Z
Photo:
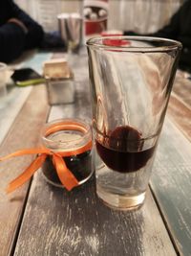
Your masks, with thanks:
M167 119L150 183L180 255L191 255L191 143Z

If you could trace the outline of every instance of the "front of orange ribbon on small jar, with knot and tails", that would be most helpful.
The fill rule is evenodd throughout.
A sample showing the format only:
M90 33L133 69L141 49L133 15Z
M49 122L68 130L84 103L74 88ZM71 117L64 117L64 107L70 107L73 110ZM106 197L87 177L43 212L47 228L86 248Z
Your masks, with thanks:
M92 141L87 143L85 146L74 150L74 151L51 151L47 148L36 148L36 149L27 149L21 151L15 151L11 154L8 154L0 158L0 161L10 159L14 156L21 156L25 154L36 153L39 154L32 164L19 176L11 181L7 188L7 193L11 193L21 185L23 185L27 180L29 180L32 175L42 166L48 155L53 156L53 165L55 167L56 173L62 183L62 185L68 190L72 190L74 187L78 186L78 181L71 171L67 168L64 156L72 156L75 154L82 153L84 151L89 151L92 149Z

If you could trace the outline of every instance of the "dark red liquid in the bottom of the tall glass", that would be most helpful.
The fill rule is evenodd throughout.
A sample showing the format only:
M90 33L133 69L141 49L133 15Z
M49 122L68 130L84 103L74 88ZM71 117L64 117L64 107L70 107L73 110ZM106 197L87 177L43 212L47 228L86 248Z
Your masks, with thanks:
M144 140L137 129L118 127L102 142L96 140L96 151L103 162L120 173L136 172L152 157L155 147L142 150Z

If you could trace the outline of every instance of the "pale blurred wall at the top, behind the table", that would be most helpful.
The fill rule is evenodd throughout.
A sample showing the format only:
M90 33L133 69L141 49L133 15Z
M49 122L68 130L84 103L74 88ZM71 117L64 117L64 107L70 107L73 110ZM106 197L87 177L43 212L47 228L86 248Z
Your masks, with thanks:
M184 0L109 0L108 30L153 33L167 24ZM81 12L83 0L15 0L46 32L57 30L60 12Z

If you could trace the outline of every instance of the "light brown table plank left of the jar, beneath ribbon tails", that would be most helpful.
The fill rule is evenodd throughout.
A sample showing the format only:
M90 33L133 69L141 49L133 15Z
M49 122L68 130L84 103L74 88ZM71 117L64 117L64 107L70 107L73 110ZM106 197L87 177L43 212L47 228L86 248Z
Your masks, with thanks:
M36 146L39 131L46 122L49 106L47 104L45 85L32 89L27 102L11 126L11 129L0 146L1 156L25 148ZM11 195L5 194L8 183L19 175L31 162L35 155L16 157L0 163L0 255L11 253L15 243L14 237L22 218L22 211L29 183Z

